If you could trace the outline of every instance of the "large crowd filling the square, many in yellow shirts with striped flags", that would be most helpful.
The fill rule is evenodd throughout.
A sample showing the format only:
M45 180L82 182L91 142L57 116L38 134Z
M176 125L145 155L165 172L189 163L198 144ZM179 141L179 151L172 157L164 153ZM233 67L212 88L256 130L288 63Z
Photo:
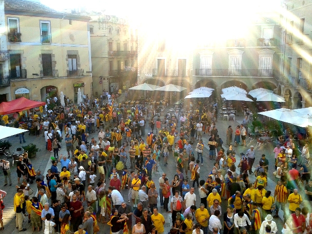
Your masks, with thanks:
M246 146L247 118L237 126L234 141L229 126L225 151L216 128L216 104L199 104L194 113L167 112L161 119L144 105L129 107L102 99L91 102L86 97L80 106L56 105L47 108L46 116L34 117L38 136L42 129L46 150L54 157L46 176L36 171L38 194L32 197L23 163L19 164L19 182L23 180L14 197L19 231L26 230L22 220L28 214L33 231L43 226L45 234L96 233L99 223L110 225L112 234L163 234L166 221L161 213L168 212L171 234L276 234L273 218L282 210L284 234L312 233L310 205L304 205L312 201L308 146L300 163L292 154L291 137L285 149L276 146L277 184L267 191L266 156L256 161L254 146L239 156L234 150L240 139ZM209 136L206 162L203 135ZM59 155L61 147L67 155ZM169 158L176 164L173 178L166 174ZM160 162L163 173L156 179ZM201 171L209 171L208 178ZM128 190L127 197L122 190ZM221 209L222 202L226 209Z

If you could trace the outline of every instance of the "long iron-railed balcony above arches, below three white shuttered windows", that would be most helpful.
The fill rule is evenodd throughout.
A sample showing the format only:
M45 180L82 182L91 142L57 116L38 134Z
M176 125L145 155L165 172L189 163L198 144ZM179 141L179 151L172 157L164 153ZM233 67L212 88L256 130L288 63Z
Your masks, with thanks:
M273 77L273 69L196 69L196 76L207 77Z

